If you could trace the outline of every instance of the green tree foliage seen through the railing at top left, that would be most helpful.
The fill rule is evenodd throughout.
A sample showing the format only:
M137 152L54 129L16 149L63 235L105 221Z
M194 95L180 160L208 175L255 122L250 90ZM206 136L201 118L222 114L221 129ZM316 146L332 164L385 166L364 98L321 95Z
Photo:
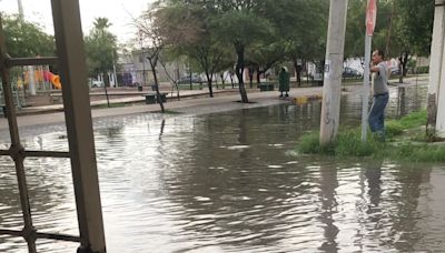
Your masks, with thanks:
M17 16L2 16L6 45L11 57L51 57L56 54L52 36L36 23L20 20Z

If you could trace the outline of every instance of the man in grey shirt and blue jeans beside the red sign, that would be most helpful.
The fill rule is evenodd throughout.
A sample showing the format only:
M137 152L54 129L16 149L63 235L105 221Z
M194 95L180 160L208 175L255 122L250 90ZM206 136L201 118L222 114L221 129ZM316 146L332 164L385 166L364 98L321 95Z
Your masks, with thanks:
M382 50L373 52L370 72L373 74L373 107L369 112L369 128L375 138L385 141L385 108L388 104L388 68L384 61L385 54Z

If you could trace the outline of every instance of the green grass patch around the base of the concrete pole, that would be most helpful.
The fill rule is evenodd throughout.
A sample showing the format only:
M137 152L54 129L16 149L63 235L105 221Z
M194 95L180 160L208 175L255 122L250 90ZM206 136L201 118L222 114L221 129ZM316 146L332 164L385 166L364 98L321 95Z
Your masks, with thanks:
M390 158L414 162L445 162L445 143L427 143L424 129L426 111L411 113L399 120L388 121L386 142L372 136L362 142L360 129L339 131L337 140L325 146L319 144L319 133L305 134L298 144L298 152L338 158Z

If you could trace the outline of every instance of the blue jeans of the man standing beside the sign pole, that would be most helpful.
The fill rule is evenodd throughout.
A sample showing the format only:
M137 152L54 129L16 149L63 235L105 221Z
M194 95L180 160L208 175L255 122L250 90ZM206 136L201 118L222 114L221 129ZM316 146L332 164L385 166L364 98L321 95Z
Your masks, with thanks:
M385 108L388 104L388 93L374 95L368 120L373 133L385 135Z

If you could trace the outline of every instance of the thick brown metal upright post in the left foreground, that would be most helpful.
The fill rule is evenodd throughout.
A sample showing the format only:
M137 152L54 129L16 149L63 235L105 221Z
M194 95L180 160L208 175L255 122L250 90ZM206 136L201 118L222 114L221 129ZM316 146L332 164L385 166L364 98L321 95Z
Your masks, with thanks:
M105 253L103 220L79 0L51 0L80 232L78 253Z

